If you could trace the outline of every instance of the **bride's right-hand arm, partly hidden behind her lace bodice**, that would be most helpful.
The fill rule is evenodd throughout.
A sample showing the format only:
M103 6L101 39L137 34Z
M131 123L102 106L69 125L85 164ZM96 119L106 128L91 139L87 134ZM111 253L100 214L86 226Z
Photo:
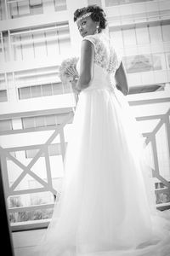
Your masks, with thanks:
M125 68L121 62L121 65L117 68L115 73L116 87L118 90L121 90L122 93L126 96L128 94L128 84L127 84L127 75Z

